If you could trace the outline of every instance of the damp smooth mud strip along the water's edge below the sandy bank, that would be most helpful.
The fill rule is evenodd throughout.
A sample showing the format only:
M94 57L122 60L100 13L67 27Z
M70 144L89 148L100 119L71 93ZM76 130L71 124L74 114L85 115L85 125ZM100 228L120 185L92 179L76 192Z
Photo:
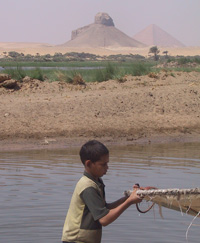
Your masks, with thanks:
M13 152L13 151L31 151L31 150L59 150L80 148L89 139L85 138L44 138L44 139L5 139L0 141L0 152ZM112 146L128 146L128 145L151 145L151 144L186 144L186 143L200 143L200 135L193 133L190 135L173 134L173 135L154 135L146 138L138 138L129 140L126 138L95 138L109 147Z

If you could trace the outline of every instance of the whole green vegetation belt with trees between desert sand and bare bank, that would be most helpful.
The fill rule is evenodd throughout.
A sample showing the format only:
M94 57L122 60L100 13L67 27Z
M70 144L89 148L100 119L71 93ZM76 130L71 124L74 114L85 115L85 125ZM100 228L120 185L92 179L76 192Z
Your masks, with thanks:
M0 66L5 70L2 73L9 74L13 79L22 80L25 76L41 81L63 81L67 83L102 82L109 79L117 79L122 82L126 75L142 76L157 73L163 63L173 74L173 71L200 71L200 56L171 57L168 51L164 56L158 56L158 48L152 47L149 51L153 57L145 58L140 55L110 55L98 56L89 53L55 53L39 55L24 55L23 53L3 53ZM153 60L153 59L155 60ZM31 67L31 68L30 68Z

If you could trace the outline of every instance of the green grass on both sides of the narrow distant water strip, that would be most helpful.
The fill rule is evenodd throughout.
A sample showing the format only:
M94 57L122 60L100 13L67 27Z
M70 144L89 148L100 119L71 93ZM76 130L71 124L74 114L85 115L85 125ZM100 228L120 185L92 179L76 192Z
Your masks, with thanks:
M126 62L105 62L105 61L84 61L84 62L7 62L4 63L5 70L2 73L9 74L13 79L22 80L25 76L41 81L48 80L63 81L73 83L74 77L80 76L85 82L102 82L109 79L123 80L125 75L142 76L151 72L157 73L160 69L156 68L157 62L154 61L126 61ZM0 62L0 66L2 63ZM3 65L2 65L3 66ZM23 69L22 67L35 67L31 70ZM10 68L9 68L10 67ZM12 68L11 68L12 67ZM15 68L13 68L15 67ZM51 67L50 69L42 69L41 67ZM55 68L54 68L55 67ZM61 70L57 67L94 67L95 69L78 69L78 70ZM167 69L173 71L200 71L198 67L174 67Z

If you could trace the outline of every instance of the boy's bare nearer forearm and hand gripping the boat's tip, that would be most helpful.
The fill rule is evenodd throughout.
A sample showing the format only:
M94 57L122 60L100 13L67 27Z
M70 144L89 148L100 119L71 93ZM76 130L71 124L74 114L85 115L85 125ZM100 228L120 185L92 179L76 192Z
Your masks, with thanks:
M113 221L115 221L129 206L135 203L140 203L142 199L136 194L137 190L134 190L129 198L127 198L123 203L121 203L116 208L113 208L104 217L99 219L102 226L107 226Z

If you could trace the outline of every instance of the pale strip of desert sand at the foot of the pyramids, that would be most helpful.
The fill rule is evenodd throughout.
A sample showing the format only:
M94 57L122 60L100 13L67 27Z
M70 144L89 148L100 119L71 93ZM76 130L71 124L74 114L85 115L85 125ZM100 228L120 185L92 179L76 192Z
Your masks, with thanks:
M106 47L106 48L86 48L86 47L65 47L62 45L51 45L46 43L23 43L23 42L0 42L0 55L3 52L16 51L19 53L24 53L25 55L31 54L36 55L39 53L40 55L55 53L65 54L67 52L85 52L92 53L96 55L117 55L117 54L139 54L145 57L148 57L149 47L142 48L128 48L128 47ZM199 47L159 47L160 55L164 55L163 51L168 51L168 55L170 56L195 56L200 55L200 46Z

